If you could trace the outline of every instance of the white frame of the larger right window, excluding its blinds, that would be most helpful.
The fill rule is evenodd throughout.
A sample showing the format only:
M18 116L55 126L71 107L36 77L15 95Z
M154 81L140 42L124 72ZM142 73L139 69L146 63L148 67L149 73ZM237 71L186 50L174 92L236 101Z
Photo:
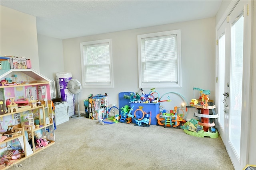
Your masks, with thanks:
M142 64L142 47L141 40L150 37L160 37L166 35L176 35L177 49L177 82L143 82L143 64ZM181 33L180 29L172 31L163 31L158 33L149 33L137 36L138 40L138 71L139 71L139 88L181 88ZM166 68L168 71L168 68Z

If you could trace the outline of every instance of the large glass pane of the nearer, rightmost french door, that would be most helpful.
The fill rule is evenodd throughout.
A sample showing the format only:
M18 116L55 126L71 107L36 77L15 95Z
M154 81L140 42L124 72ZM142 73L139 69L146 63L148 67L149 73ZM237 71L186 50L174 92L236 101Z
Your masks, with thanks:
M232 24L231 35L231 80L230 80L230 134L229 141L240 157L244 17L241 15Z

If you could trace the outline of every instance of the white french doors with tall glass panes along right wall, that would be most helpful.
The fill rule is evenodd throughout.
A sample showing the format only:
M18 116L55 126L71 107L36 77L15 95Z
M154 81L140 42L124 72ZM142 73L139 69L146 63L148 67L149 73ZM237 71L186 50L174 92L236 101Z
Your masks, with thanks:
M250 69L248 2L238 1L217 30L217 129L235 169L244 168L248 161L248 126L245 123L249 117L246 102L250 82L247 76Z

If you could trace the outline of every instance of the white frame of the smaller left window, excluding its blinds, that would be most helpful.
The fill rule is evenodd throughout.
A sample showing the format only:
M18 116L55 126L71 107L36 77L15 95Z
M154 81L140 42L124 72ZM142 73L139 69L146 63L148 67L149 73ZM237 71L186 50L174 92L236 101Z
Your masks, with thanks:
M110 82L86 82L85 76L86 71L86 55L84 55L84 46L89 45L100 45L102 43L109 44L109 54L110 54ZM81 68L82 68L82 87L83 88L114 88L114 79L113 79L113 66L112 66L112 39L102 39L96 41L88 41L80 43L81 51Z

